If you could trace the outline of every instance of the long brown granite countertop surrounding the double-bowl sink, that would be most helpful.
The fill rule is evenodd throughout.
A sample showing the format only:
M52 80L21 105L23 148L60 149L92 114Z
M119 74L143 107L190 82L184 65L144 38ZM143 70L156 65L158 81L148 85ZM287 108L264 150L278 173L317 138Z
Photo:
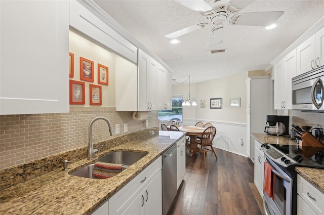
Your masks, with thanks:
M135 178L145 167L185 135L185 132L159 132L147 140L135 140L107 151L148 153L142 159L109 179L87 179L71 176L74 170L96 162L87 158L69 164L69 170L56 169L1 191L0 214L90 214L114 193Z

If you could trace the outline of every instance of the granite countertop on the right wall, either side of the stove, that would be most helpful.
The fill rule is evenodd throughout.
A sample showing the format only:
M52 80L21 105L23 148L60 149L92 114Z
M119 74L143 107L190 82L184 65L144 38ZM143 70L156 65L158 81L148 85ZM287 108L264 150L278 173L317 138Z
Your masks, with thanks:
M296 141L288 137L271 136L266 134L251 134L260 143L280 144L280 145L295 145ZM295 167L297 173L306 181L324 193L324 169Z

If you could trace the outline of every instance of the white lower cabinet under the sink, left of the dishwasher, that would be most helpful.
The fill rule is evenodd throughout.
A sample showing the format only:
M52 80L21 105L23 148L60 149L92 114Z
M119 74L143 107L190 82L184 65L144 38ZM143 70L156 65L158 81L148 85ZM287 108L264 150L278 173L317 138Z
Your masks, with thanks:
M109 200L109 214L162 214L161 157Z

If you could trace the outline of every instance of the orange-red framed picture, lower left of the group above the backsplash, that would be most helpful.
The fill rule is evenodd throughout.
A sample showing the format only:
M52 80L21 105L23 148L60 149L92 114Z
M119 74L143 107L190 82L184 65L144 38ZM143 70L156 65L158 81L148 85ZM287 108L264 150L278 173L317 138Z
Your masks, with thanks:
M85 82L70 80L70 104L84 105L85 103Z

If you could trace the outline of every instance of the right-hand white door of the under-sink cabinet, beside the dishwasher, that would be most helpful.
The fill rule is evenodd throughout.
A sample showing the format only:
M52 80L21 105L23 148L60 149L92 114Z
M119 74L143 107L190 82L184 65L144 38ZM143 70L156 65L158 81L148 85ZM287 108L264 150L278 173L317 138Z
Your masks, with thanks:
M142 194L144 196L144 214L161 215L162 214L162 173L152 179ZM132 213L135 214L135 213Z

